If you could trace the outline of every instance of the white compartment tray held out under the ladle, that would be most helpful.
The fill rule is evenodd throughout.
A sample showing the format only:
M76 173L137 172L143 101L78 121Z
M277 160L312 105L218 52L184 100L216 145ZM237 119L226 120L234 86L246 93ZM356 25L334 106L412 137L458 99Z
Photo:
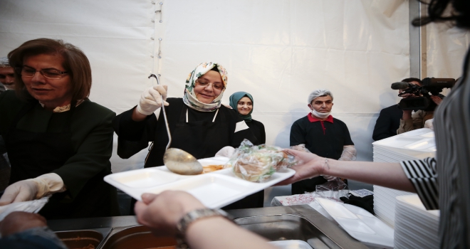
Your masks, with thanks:
M211 157L198 161L202 166L207 166L225 164L229 159ZM235 176L230 168L196 176L183 176L174 174L166 166L157 166L110 174L105 176L105 181L139 201L144 193L159 194L165 190L180 190L192 194L208 208L221 208L288 179L295 173L293 169L285 169L274 173L266 182L254 183Z

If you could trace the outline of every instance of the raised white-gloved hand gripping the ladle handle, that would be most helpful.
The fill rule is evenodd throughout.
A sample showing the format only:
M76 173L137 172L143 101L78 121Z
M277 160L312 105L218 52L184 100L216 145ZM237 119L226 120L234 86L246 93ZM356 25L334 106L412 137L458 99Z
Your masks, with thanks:
M162 97L163 96L163 105L169 105L167 100L167 85L156 85L152 88L147 88L142 95L140 95L139 105L137 105L137 112L142 113L143 115L152 115L158 108L162 107Z

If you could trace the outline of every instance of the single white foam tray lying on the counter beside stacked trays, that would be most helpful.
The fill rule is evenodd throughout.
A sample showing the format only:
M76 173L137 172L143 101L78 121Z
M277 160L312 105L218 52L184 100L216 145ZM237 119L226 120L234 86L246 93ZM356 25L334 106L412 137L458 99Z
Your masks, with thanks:
M363 208L345 203L316 199L353 238L365 245L393 248L393 229Z

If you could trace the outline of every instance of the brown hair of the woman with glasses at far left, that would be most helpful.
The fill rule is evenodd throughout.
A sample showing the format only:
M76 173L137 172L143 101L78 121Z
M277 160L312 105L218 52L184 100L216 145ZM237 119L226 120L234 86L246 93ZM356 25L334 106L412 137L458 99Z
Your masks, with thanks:
M13 68L23 67L23 60L33 55L59 55L63 58L63 68L71 77L72 102L83 100L90 95L91 67L90 61L79 48L62 40L39 38L26 41L8 54L10 65ZM21 80L21 75L15 70L16 94L23 100L31 98L26 86Z

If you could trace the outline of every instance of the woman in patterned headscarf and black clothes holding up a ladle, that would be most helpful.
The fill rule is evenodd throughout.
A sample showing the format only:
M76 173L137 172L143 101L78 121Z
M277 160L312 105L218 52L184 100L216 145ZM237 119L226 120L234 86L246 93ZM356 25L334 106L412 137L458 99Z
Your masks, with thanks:
M182 98L167 98L166 85L145 90L139 105L118 115L113 122L119 136L117 154L126 159L153 142L145 167L163 165L167 131L162 113L158 120L154 114L162 105L172 134L171 147L183 149L197 159L214 157L226 146L239 147L243 139L256 141L244 120L221 105L226 85L225 68L206 62L189 74Z

